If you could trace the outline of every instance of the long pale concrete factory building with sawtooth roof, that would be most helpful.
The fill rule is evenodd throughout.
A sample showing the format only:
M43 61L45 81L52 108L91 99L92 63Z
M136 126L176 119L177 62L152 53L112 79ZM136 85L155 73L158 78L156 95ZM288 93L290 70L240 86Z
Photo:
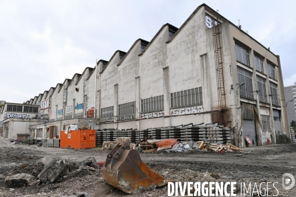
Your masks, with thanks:
M39 105L38 116L48 119L29 128L43 138L70 124L219 124L240 147L246 136L264 145L278 131L290 135L280 57L206 4L180 28L164 24L150 41L137 39L26 104Z

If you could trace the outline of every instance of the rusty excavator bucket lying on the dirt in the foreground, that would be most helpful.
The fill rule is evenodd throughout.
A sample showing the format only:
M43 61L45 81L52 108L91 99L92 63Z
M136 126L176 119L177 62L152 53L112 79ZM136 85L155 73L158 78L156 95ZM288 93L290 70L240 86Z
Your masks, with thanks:
M111 150L102 173L106 183L129 194L139 194L168 183L142 161L139 152L131 149L128 142L117 144Z

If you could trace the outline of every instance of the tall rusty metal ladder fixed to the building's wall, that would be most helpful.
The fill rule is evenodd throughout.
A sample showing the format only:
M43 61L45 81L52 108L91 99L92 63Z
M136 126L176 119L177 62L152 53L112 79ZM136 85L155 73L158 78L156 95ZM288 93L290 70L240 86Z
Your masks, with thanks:
M222 62L222 53L221 53L222 47L221 47L221 40L220 40L219 24L215 23L216 20L214 20L213 17L212 17L212 21L213 21L212 30L213 30L213 43L214 43L214 52L215 52L219 107L221 107L222 109L225 109L226 100L225 100L225 90L224 90L223 62Z

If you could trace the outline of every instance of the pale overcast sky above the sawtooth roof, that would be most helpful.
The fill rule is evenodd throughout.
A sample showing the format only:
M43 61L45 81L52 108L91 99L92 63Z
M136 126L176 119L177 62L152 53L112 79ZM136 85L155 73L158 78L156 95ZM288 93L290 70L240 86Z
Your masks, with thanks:
M280 55L284 85L296 82L296 1L1 0L0 100L22 103L109 61L162 25L180 27L206 3Z

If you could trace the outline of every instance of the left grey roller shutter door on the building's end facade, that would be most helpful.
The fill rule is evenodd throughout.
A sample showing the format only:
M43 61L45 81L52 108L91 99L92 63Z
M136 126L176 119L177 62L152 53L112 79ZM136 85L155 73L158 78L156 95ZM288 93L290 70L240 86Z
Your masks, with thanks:
M243 142L245 146L248 147L245 137L249 137L252 140L252 146L257 145L257 133L256 133L255 120L247 120L247 119L243 120ZM255 144L253 140L255 141Z

